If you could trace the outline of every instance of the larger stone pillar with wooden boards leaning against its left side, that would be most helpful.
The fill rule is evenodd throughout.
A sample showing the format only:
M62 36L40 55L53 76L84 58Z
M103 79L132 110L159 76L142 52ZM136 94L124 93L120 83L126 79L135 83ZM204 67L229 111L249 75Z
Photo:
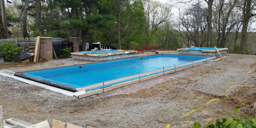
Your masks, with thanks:
M52 37L40 37L39 58L52 60Z

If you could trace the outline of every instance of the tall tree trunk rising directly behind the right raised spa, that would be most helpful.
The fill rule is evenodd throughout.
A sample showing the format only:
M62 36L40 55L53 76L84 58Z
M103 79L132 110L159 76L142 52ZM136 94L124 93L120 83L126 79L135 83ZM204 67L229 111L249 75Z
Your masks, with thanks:
M208 42L210 42L210 47L212 47L212 2L213 0L208 0L207 47L209 47Z

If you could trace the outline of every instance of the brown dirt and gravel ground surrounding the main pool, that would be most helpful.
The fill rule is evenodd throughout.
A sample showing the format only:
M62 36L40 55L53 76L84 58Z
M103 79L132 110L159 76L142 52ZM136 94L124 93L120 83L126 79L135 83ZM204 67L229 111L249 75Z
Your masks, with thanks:
M59 61L42 62L40 66ZM0 76L0 105L4 107L4 119L17 117L31 123L52 123L56 119L96 128L164 128L167 124L187 128L195 121L205 125L229 117L240 107L251 116L255 114L256 86L233 87L220 96L232 85L256 85L255 65L255 55L229 54L224 60L79 100ZM21 66L1 64L1 69L15 67ZM212 99L217 100L181 118Z

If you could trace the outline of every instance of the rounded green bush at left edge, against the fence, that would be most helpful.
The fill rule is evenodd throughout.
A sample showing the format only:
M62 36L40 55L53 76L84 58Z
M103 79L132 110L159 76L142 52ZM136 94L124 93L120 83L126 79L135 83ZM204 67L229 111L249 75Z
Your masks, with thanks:
M5 61L12 61L14 60L15 55L18 55L20 50L22 49L21 47L17 47L16 44L14 43L2 43L0 44L0 49L2 55L5 56L4 60Z

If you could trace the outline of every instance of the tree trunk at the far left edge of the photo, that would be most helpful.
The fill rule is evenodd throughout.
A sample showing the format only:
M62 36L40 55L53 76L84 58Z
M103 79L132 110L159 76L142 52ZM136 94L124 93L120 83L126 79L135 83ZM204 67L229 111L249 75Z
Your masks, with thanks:
M2 16L4 37L8 38L8 27L7 27L7 21L6 21L4 0L0 0L0 6L1 6L1 16Z

